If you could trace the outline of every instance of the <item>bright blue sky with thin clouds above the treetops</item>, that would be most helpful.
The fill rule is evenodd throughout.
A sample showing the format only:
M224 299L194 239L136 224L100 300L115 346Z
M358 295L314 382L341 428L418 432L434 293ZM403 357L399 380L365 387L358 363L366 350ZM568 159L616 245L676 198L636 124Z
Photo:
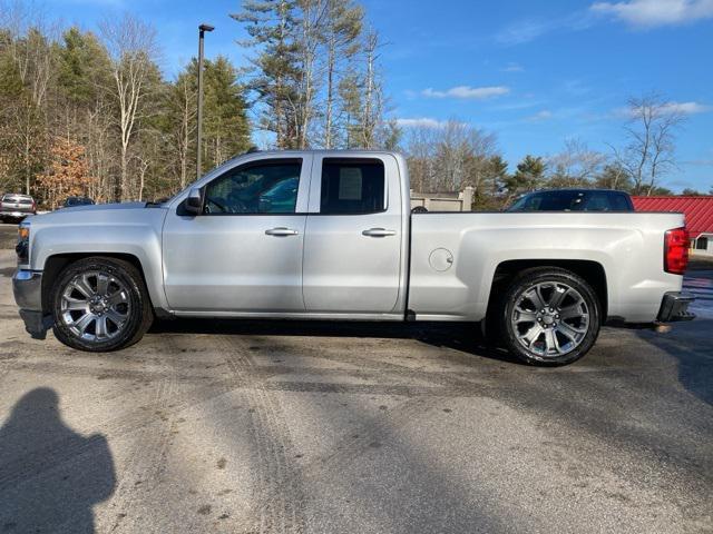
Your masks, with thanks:
M512 169L567 138L607 151L622 142L621 108L657 91L687 120L675 190L713 188L713 0L364 0L382 51L391 113L403 125L449 118L494 131ZM240 0L47 0L48 14L94 29L129 11L153 23L163 68L175 72L211 22L206 55L246 65L227 13Z

